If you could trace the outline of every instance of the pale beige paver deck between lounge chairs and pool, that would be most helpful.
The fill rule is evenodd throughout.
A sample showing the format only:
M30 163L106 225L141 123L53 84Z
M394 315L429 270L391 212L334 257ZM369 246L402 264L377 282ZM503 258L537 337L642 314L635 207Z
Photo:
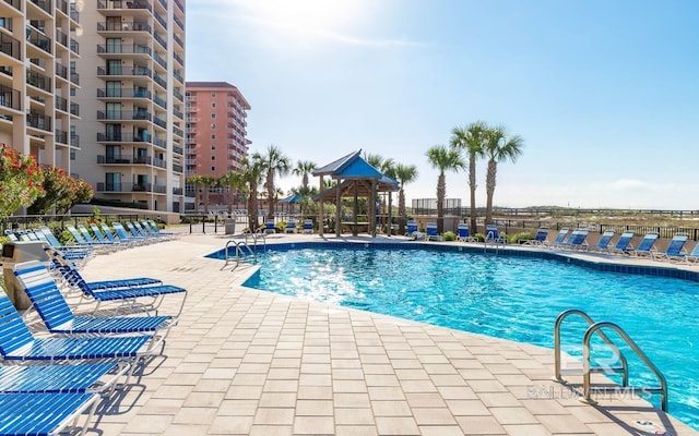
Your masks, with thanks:
M275 239L301 238L318 237ZM697 434L641 400L581 403L550 382L548 349L241 288L254 267L203 257L226 240L185 235L83 269L189 290L165 355L100 408L102 436Z

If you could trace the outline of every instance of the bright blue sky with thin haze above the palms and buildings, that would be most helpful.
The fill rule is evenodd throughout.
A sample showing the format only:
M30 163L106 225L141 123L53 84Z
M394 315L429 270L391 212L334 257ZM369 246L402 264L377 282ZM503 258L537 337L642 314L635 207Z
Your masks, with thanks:
M415 165L408 199L436 197L425 152L482 120L524 138L497 206L698 209L698 19L694 0L190 0L186 74L241 90L251 150ZM447 196L469 203L465 172Z

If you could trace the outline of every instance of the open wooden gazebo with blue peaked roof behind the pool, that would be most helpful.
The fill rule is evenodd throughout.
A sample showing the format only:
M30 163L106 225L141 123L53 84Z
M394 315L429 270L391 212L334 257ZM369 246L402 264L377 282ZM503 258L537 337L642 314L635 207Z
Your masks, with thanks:
M319 202L318 221L319 221L319 234L323 234L323 203L335 203L335 234L340 237L342 226L348 226L352 228L352 234L357 235L359 228L368 226L367 231L371 237L376 238L376 204L379 192L395 192L399 191L399 184L395 180L381 173L372 166L370 166L360 156L362 149L354 152L345 157L342 157L327 166L317 169L312 172L312 175L320 178L320 194L313 197ZM336 181L335 186L325 190L323 178L328 175L332 180ZM342 197L354 198L354 209L352 221L342 222L341 214L341 199ZM359 222L357 219L359 197L367 198L368 206L368 219L367 222ZM391 222L391 210L389 210L389 223Z

